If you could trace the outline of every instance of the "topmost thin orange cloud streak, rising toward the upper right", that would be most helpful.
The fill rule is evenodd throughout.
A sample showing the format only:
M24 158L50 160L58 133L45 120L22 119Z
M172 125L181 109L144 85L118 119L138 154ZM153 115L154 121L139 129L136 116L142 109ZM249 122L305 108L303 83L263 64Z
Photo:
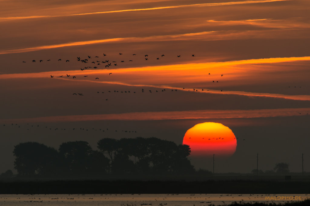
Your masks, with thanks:
M158 10L158 9L193 7L193 6L227 6L227 5L238 5L238 4L254 4L254 3L266 3L266 2L283 2L283 1L292 1L292 0L252 0L252 1L239 1L239 2L220 2L220 3L201 3L201 4L177 5L177 6L160 6L160 7L153 7L153 8L125 9L125 10L116 10L116 11L99 11L99 12L68 14L68 15L38 15L38 16L33 15L33 16L2 17L2 18L0 18L0 21L19 20L19 19L51 18L51 17L63 17L63 16L77 16L77 15L92 15L92 14L106 14L106 13L128 12L128 11L147 11L147 10Z

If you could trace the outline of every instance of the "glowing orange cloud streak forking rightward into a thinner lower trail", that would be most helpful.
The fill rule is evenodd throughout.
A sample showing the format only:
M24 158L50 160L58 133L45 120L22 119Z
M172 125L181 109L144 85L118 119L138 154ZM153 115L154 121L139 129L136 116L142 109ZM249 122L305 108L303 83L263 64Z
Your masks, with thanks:
M269 97L269 98L281 98L297 101L310 101L310 95L287 95L278 93L266 93L266 92L245 92L245 91L230 91L230 90L216 90L211 88L183 88L175 86L178 84L167 84L167 82L184 82L184 78L187 82L206 81L209 77L208 72L213 68L213 75L220 76L222 72L229 71L236 74L231 75L228 79L241 78L240 75L244 75L245 72L251 72L250 65L258 64L270 64L280 62L294 62L294 61L309 61L310 57L290 57L290 58L266 58L266 59L248 59L239 61L228 62L206 62L206 63L191 63L191 64L177 64L177 65L165 65L165 66L152 66L152 67L139 67L139 68L123 68L123 69L102 69L102 70L87 70L87 71L48 71L39 73L22 73L22 74L1 74L0 79L16 79L16 78L50 78L50 75L54 75L54 79L92 82L96 84L119 84L125 86L135 87L153 87L153 88L168 88L177 89L186 92L200 92L200 93L212 93L221 95L241 95L247 97ZM246 71L241 67L246 66ZM218 68L221 68L219 71ZM235 69L235 67L241 67ZM264 67L264 66L263 66ZM206 70L208 68L208 70ZM254 67L257 70L256 67ZM254 70L252 69L252 70ZM282 68L281 68L282 69ZM283 69L282 69L283 70ZM117 78L108 75L112 72L117 74ZM240 73L240 74L238 74ZM264 72L266 73L266 71ZM66 77L59 77L60 75L100 75L98 80L90 79L72 79ZM228 75L229 76L229 75ZM264 77L265 78L265 77ZM168 81L170 79L170 81ZM211 81L211 80L210 80ZM182 83L184 84L184 83ZM197 90L197 91L196 91Z

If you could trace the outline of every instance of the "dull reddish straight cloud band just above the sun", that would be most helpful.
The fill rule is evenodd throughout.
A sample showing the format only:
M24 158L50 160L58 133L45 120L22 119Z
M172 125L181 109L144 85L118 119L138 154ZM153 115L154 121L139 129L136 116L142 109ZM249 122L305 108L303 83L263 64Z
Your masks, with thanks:
M310 108L250 109L250 110L189 110L168 112L131 112L121 114L92 114L49 116L21 119L1 119L0 122L80 122L100 120L147 121L171 119L227 119L290 117L310 114Z

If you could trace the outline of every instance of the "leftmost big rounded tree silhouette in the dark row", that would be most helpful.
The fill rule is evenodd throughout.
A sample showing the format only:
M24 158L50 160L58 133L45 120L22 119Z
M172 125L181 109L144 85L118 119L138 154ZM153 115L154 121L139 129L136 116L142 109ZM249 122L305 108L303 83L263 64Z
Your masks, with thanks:
M15 145L13 154L15 156L14 168L19 175L55 175L58 162L56 149L37 142L25 142Z

